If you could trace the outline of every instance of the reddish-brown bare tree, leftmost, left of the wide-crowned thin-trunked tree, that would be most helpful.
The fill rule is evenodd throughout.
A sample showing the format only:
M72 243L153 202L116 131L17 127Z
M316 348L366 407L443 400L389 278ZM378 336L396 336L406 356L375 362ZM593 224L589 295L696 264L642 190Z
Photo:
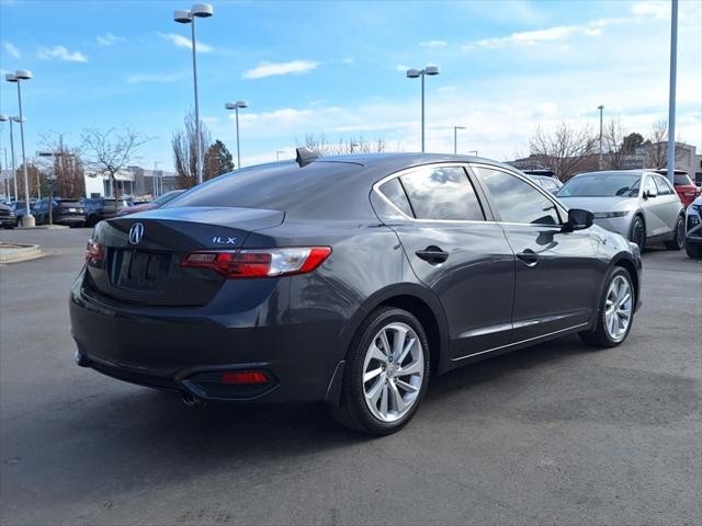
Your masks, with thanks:
M86 180L80 150L67 146L64 134L43 136L41 144L52 153L46 169L54 178L54 193L75 199L82 197Z

